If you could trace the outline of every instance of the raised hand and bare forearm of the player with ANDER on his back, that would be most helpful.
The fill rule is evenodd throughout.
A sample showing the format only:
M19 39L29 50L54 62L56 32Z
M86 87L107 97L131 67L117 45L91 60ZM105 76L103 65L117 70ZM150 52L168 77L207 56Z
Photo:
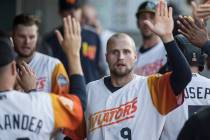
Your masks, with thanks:
M70 73L83 75L80 62L81 28L80 23L70 16L63 18L64 34L56 30L60 45L68 59Z

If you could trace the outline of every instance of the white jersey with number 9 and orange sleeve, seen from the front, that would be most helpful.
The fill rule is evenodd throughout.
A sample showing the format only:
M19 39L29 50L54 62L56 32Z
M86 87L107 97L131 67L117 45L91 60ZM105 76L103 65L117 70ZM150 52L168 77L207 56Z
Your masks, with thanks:
M182 103L169 82L170 73L135 78L110 92L104 79L87 85L87 139L158 140L165 114Z

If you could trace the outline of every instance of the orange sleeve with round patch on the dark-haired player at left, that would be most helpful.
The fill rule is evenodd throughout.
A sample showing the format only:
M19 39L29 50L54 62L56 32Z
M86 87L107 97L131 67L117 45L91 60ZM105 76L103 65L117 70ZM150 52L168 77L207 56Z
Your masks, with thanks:
M56 64L52 73L52 91L58 95L69 92L69 78L62 63Z

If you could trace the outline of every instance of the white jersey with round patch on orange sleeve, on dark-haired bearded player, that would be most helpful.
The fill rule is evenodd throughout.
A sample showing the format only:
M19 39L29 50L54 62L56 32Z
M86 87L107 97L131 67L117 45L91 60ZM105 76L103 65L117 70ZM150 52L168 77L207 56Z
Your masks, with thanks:
M68 92L69 79L58 59L35 52L29 66L37 76L37 91L56 94Z

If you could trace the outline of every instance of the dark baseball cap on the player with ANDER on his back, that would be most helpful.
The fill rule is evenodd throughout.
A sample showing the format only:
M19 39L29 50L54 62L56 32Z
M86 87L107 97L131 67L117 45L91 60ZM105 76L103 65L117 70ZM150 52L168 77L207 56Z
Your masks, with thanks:
M3 67L15 60L15 53L8 36L0 31L0 67Z

